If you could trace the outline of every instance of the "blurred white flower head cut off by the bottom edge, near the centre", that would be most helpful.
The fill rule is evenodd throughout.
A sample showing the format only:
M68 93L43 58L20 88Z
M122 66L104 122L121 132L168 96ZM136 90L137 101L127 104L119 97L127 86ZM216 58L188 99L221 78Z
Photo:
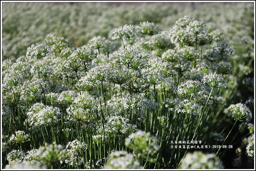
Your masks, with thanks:
M110 154L103 169L143 169L143 167L127 151L115 151Z

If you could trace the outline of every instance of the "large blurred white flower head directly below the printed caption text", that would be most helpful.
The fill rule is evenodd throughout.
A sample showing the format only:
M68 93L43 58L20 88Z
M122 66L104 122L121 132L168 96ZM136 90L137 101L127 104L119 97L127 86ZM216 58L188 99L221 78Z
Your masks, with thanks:
M187 153L183 158L180 169L223 169L222 161L215 154L204 154L202 151Z

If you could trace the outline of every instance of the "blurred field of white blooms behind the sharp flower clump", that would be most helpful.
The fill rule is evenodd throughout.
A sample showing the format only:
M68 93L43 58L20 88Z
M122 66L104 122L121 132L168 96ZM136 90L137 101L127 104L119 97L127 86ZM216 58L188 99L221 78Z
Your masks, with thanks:
M111 32L124 24L149 21L169 31L184 15L205 22L209 30L222 31L232 44L241 44L234 40L237 36L254 37L253 2L3 2L2 59L18 58L32 44L44 44L49 33L80 47L94 36L111 39Z

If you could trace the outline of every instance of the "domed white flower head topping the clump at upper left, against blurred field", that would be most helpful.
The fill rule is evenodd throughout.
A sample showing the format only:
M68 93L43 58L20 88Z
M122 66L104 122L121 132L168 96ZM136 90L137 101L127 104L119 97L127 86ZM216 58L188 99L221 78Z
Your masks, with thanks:
M32 44L31 47L27 48L26 57L41 59L50 54L52 54L52 49L48 45L36 44L34 46Z

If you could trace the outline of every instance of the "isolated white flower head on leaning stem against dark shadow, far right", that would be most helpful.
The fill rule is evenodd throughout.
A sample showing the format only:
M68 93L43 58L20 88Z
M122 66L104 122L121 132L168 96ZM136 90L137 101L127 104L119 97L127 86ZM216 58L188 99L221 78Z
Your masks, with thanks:
M249 122L252 118L251 110L243 103L238 103L236 105L231 104L228 107L228 111L232 118L241 122Z

